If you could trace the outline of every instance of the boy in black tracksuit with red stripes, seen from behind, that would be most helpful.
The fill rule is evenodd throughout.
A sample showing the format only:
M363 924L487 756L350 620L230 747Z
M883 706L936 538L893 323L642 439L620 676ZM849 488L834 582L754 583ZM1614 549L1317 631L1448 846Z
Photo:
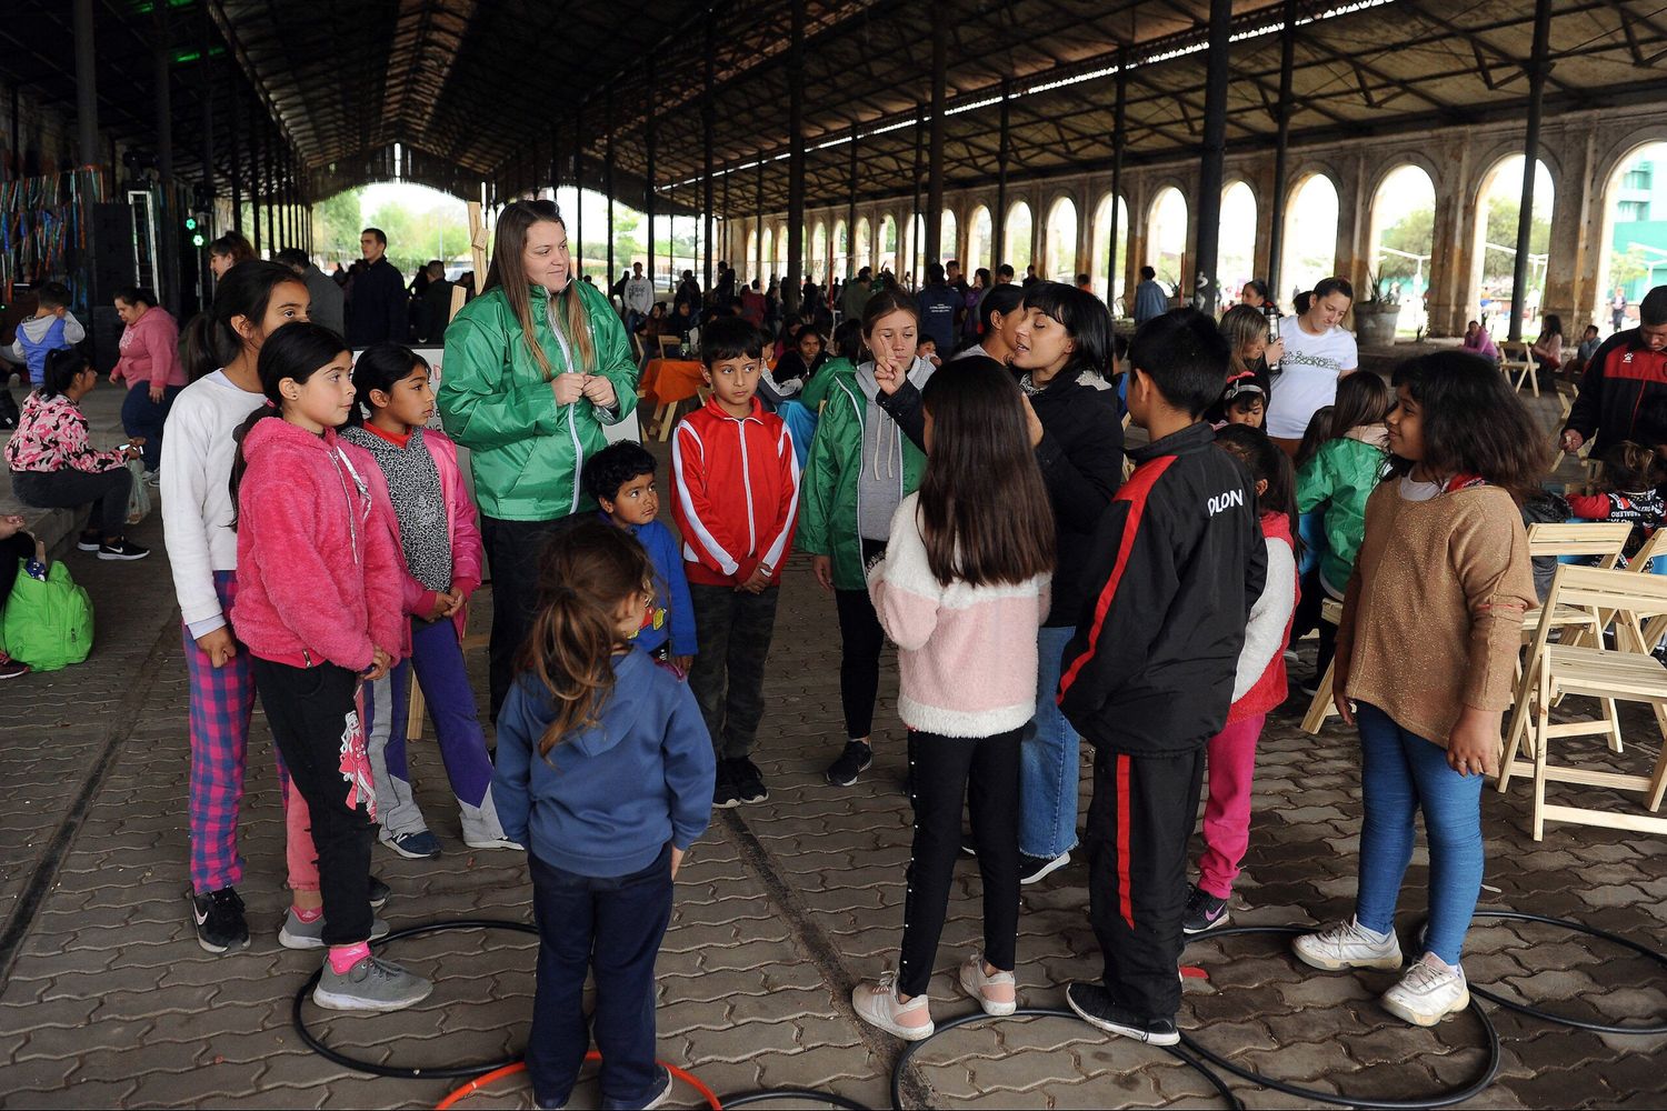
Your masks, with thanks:
M1100 520L1090 588L1065 648L1060 708L1095 746L1089 918L1104 984L1065 998L1089 1023L1175 1044L1187 841L1205 743L1227 721L1250 605L1267 556L1255 488L1200 415L1229 350L1209 316L1147 321L1129 350L1129 413L1150 443Z

